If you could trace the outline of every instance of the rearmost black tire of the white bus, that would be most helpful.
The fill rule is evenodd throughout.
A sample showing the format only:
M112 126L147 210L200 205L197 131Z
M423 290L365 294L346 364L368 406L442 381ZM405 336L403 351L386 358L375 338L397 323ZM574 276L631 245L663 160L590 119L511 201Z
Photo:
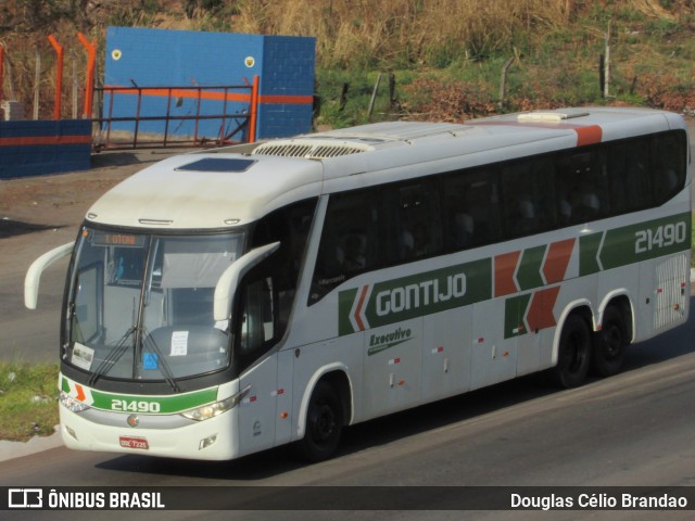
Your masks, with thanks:
M622 369L629 339L623 316L617 307L607 307L602 322L601 331L594 335L591 371L606 378Z

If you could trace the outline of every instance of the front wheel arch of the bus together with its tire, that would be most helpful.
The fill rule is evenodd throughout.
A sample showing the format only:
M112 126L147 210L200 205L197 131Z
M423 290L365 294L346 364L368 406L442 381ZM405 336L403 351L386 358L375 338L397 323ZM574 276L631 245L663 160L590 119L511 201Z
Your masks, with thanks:
M351 386L342 370L332 370L309 385L302 406L296 448L311 462L329 459L340 443L342 430L352 418Z

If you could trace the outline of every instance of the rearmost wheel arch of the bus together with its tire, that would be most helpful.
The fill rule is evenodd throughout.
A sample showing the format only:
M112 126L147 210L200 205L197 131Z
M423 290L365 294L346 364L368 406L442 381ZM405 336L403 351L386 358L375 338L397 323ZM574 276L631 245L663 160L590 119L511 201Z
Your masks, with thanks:
M626 295L612 297L601 314L601 327L593 334L591 372L602 378L622 369L633 338L632 306Z

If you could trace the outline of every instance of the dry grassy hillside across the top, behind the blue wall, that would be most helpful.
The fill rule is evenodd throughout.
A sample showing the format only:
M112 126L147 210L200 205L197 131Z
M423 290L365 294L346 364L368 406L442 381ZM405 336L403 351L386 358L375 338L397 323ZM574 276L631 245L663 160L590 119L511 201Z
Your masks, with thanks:
M534 98L546 104L591 102L586 88L581 91L574 86L583 81L582 76L596 75L603 33L611 20L616 21L612 26L618 43L615 55L621 59L622 67L614 69L618 88L639 97L640 102L695 109L688 93L695 81L692 74L688 77L683 72L692 71L684 63L695 56L669 63L664 58L666 51L654 45L664 41L666 46L668 35L660 39L645 36L671 24L681 27L683 38L692 42L692 0L10 0L0 3L0 45L5 47L3 98L24 101L30 112L38 51L42 69L40 117L51 117L55 66L47 35L52 33L65 48L62 115L71 117L73 62L80 86L78 104L86 62L75 37L77 30L103 49L108 25L135 25L313 36L318 71L420 74L447 68L447 74L466 84L466 101L463 105L457 102L460 110L476 113L488 111L497 101L493 93L498 71L514 56L510 81L514 84L516 75L517 86L510 86L510 96L515 106L532 104ZM633 45L630 39L642 41ZM678 45L679 49L685 47ZM645 55L648 60L642 60ZM438 90L451 87L444 78L439 79L446 85ZM425 84L420 87L429 88ZM568 89L578 91L568 93ZM410 91L417 94L417 89ZM563 96L557 96L560 92ZM441 94L440 104L451 104L458 97L456 92ZM470 100L471 96L481 98ZM413 101L409 105L425 112Z

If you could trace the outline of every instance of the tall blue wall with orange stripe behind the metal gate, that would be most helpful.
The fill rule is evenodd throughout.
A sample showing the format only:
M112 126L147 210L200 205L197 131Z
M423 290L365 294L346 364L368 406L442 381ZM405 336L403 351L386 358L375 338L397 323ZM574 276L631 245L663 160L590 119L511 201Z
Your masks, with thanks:
M312 129L315 39L304 37L201 33L190 30L109 27L104 65L104 85L117 87L187 87L252 85L258 76L260 106L256 138L306 132ZM233 90L227 100L228 113L249 110L250 90ZM200 113L222 114L219 93L201 92ZM173 116L198 113L193 94L175 96L168 110ZM104 117L111 99L104 99ZM114 94L111 115L135 116L137 96ZM165 115L165 89L142 97L141 116ZM225 122L228 134L240 120ZM199 137L216 138L220 119L201 120ZM132 131L134 123L112 127ZM163 122L141 122L139 131L163 134ZM193 136L193 122L172 122L169 132ZM241 140L241 136L233 139Z

